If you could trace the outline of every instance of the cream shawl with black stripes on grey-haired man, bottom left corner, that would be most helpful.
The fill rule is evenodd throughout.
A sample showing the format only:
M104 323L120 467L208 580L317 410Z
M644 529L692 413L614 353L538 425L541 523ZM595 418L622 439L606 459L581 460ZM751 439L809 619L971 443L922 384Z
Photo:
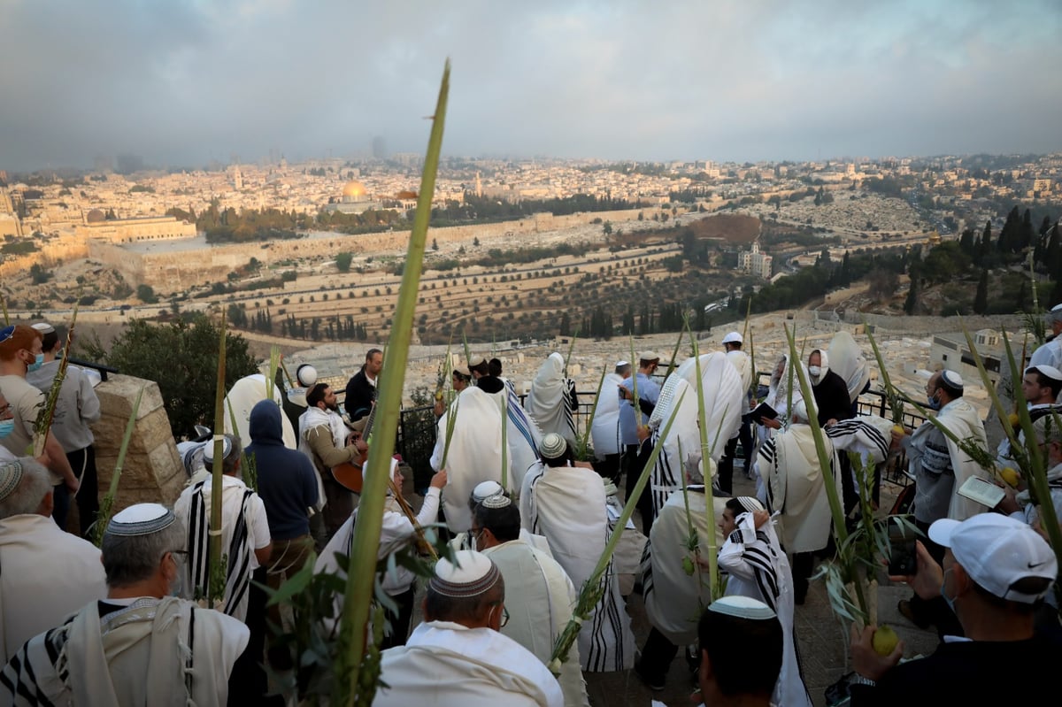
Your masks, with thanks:
M175 597L104 617L90 602L22 646L0 674L0 704L224 707L249 635L240 621Z

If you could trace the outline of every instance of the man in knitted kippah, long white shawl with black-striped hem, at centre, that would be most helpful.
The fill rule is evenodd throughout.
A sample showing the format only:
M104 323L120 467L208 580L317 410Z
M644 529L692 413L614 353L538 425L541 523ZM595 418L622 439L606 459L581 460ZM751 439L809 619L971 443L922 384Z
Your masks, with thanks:
M528 531L545 535L553 557L571 583L582 587L589 580L609 542L609 514L604 484L588 465L571 466L571 452L555 432L543 437L544 466L524 477L520 521ZM583 670L610 672L634 665L634 635L614 563L601 579L604 593L579 633Z

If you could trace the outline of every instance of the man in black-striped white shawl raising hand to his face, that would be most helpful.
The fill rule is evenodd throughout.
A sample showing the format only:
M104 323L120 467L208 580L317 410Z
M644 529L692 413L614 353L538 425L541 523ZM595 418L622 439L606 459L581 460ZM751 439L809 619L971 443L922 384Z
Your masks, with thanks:
M774 687L773 704L811 707L793 637L792 572L773 521L758 500L741 496L726 501L719 529L726 538L719 550L719 570L730 575L726 596L761 601L782 622L782 672Z

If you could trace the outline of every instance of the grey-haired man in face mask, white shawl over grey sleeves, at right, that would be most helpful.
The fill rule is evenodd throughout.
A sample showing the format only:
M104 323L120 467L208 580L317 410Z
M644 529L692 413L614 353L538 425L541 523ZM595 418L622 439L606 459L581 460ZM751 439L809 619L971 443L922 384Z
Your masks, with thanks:
M937 410L937 421L957 438L967 439L988 449L984 425L977 410L962 397L962 378L954 370L939 370L926 383L929 407ZM908 469L914 475L914 523L923 533L941 518L964 520L984 507L958 494L972 476L990 480L989 475L952 442L932 421L924 421L913 434L898 435L907 452ZM944 558L944 548L931 539L926 548L938 563ZM927 606L915 593L910 601L901 601L898 610L920 627L931 623ZM939 628L940 626L938 626Z

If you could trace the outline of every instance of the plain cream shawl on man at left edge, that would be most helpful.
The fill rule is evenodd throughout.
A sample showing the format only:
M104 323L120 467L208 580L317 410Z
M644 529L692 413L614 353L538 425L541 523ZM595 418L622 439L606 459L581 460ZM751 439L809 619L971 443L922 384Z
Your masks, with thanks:
M51 518L0 520L0 657L107 596L100 551L59 530Z

